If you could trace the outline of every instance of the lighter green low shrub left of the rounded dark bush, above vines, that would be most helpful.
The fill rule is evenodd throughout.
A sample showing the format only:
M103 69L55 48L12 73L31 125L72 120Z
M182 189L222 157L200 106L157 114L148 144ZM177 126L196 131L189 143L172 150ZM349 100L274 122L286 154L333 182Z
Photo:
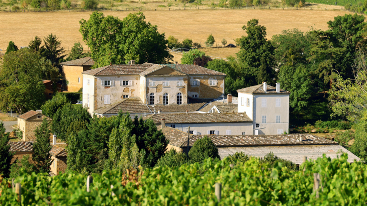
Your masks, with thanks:
M182 152L176 152L175 149L171 149L168 152L164 153L155 165L156 167L179 167L182 164L185 164L188 162L188 157L185 153Z

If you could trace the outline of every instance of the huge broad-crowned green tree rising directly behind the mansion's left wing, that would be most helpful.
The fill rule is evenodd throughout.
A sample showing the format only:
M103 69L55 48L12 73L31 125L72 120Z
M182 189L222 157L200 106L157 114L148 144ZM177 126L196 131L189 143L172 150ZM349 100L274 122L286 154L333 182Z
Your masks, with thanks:
M109 64L167 63L172 55L167 51L164 33L145 22L142 13L128 14L123 20L94 12L89 20L80 21L83 40L89 46L94 68Z

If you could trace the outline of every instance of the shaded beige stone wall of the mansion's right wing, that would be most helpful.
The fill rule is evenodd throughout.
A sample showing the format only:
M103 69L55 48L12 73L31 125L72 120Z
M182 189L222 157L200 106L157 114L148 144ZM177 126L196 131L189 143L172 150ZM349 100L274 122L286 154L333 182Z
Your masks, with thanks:
M198 80L199 85L193 86L192 80ZM209 80L217 80L214 86L209 85ZM217 98L224 94L224 76L189 76L188 95L198 94L198 98Z

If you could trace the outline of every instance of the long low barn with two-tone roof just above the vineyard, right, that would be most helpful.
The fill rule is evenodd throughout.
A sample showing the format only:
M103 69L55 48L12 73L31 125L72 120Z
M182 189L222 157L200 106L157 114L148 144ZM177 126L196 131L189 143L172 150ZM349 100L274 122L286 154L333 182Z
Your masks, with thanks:
M167 150L175 149L184 152L188 145L188 133L180 130L165 127L162 132L169 140ZM317 137L311 134L288 134L288 135L190 135L189 150L195 141L209 137L216 145L219 156L224 159L228 155L236 152L243 152L254 157L264 157L272 152L279 158L290 160L299 165L303 162L303 157L316 160L322 157L335 159L342 153L348 154L348 162L360 160L353 153L337 142Z

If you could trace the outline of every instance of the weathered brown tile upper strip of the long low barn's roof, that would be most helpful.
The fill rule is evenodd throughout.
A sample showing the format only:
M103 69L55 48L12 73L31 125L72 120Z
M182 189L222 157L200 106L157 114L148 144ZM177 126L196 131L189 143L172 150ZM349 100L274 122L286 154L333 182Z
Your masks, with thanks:
M167 120L166 120L167 122ZM204 136L209 137L217 147L233 146L276 146L276 145L335 145L334 141L311 134L288 135L190 135L190 146ZM300 141L300 137L303 141ZM184 142L183 146L187 145Z

